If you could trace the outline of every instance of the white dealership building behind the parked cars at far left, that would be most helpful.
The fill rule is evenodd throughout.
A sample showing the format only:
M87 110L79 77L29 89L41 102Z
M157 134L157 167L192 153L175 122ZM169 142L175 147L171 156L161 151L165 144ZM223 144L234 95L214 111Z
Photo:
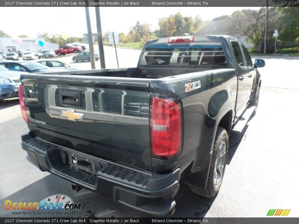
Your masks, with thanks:
M38 42L42 41L44 45L41 47ZM58 44L53 44L51 42L45 41L45 38L0 38L0 51L7 53L10 51L18 50L56 50L59 48Z

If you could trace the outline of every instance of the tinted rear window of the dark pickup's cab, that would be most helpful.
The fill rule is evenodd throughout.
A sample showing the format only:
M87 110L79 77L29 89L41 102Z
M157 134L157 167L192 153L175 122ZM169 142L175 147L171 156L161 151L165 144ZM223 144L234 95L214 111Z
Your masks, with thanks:
M221 43L152 44L145 48L141 65L225 66Z

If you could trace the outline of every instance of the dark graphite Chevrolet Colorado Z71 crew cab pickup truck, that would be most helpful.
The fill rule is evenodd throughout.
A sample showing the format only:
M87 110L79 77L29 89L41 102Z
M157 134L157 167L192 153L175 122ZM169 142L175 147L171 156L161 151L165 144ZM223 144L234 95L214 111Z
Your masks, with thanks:
M152 215L179 183L212 198L228 138L256 113L262 59L231 36L145 43L136 68L21 75L26 157L81 188Z

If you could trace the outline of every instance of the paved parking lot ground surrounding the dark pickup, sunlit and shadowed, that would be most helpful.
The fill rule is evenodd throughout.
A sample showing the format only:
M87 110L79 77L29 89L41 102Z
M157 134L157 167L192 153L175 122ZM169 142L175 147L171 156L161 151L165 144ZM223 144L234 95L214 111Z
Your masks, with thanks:
M105 47L104 50L106 67L117 68L115 49ZM140 50L118 48L117 53L120 68L135 67ZM57 59L80 69L91 68L89 62L74 63L71 58ZM266 217L269 209L291 209L288 217L299 216L296 176L299 57L259 58L265 59L266 66L259 69L262 88L258 112L241 135L230 136L219 194L204 198L180 183L174 198L176 211L171 217ZM99 61L96 68L100 68ZM68 181L38 170L26 161L26 152L21 149L20 136L27 131L18 100L1 102L1 206L5 200L38 202L53 194L64 194L75 203L82 203L82 209L73 217L151 217L85 189L75 193ZM1 209L0 217L13 215Z

